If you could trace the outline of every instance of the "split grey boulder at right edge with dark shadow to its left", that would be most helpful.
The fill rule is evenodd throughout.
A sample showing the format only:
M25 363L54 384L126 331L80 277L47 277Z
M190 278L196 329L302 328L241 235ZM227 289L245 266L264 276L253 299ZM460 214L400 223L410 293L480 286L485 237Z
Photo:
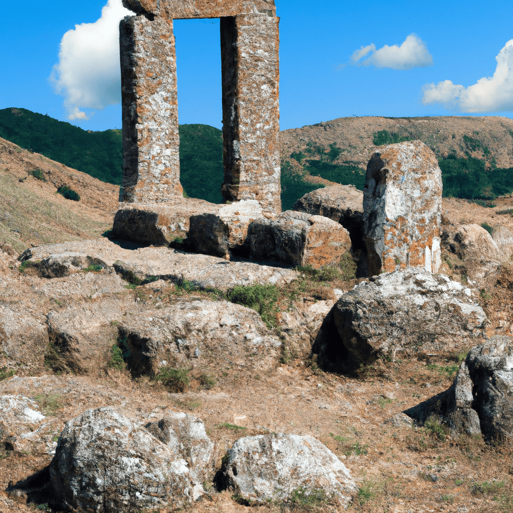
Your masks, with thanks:
M513 342L496 336L473 347L451 387L404 411L423 424L438 415L456 431L513 444Z

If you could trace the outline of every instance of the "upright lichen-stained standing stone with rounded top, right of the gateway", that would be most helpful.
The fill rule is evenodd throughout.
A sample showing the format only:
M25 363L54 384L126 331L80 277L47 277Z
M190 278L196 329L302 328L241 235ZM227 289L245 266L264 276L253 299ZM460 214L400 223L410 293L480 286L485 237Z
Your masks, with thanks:
M438 272L442 172L422 142L391 144L367 165L363 209L369 273L398 266Z

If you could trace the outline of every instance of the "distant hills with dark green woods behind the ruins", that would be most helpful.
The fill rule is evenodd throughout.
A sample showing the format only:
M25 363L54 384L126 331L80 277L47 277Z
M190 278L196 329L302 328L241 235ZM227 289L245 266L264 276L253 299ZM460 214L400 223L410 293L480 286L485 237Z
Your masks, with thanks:
M180 176L185 194L221 203L223 134L181 125ZM89 132L26 109L0 110L0 137L111 184L122 179L121 130ZM513 120L505 117L350 117L280 134L282 206L330 182L363 189L365 168L380 146L420 139L437 155L444 195L491 202L513 191Z

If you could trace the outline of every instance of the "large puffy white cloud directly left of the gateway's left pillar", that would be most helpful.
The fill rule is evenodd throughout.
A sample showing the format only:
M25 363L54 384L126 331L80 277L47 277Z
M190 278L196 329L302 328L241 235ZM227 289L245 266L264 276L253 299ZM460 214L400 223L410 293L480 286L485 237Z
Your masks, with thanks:
M68 119L87 120L93 113L82 109L121 102L119 23L128 14L121 0L108 0L100 19L64 34L49 80L65 98Z

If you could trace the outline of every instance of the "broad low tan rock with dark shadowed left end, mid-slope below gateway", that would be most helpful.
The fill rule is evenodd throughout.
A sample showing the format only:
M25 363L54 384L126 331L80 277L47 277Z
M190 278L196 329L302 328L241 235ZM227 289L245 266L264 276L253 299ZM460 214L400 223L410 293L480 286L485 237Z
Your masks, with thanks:
M117 328L133 376L212 359L267 367L282 346L256 311L227 301L184 301L145 310L123 318Z

